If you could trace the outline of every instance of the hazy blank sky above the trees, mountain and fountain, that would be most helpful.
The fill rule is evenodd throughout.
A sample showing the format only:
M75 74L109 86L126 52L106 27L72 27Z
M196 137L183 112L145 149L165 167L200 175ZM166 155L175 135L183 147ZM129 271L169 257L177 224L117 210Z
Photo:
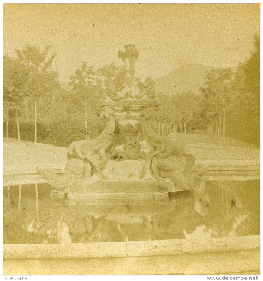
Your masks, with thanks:
M67 82L82 61L122 64L117 52L135 44L136 76L157 78L187 63L236 66L253 50L259 7L251 4L4 4L4 53L25 42L57 53Z

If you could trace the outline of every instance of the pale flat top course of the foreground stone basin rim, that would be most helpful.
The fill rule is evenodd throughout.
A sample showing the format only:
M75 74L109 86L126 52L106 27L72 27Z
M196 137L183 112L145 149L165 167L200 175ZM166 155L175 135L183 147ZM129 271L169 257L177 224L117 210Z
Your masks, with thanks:
M260 235L72 244L4 244L3 259L143 257L260 249Z

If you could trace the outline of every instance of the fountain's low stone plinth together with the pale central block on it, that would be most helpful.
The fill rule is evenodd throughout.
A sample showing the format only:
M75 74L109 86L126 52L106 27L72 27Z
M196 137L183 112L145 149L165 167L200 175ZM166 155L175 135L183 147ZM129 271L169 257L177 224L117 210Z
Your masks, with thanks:
M167 202L168 192L175 192L173 182L154 178L140 179L141 160L108 161L104 168L107 179L93 175L91 179L70 183L63 191L53 191L53 199L76 204L148 204Z

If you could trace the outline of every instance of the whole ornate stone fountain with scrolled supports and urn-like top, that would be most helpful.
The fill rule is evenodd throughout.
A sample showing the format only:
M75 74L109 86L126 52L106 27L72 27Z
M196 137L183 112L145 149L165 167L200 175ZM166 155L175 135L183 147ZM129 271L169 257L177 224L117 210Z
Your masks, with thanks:
M83 194L85 198L87 194L123 194L131 203L134 194L143 197L150 193L152 200L168 199L168 192L193 189L203 183L205 171L194 165L194 157L184 153L183 145L156 135L152 129L158 120L153 81L147 78L141 83L135 77L139 53L134 45L124 47L125 51L118 52L126 69L123 89L117 92L113 81L105 79L107 97L101 113L107 120L105 130L95 139L69 146L64 174L38 169L55 188L53 195L69 199L72 194L78 198ZM143 135L150 150L142 150L138 134Z

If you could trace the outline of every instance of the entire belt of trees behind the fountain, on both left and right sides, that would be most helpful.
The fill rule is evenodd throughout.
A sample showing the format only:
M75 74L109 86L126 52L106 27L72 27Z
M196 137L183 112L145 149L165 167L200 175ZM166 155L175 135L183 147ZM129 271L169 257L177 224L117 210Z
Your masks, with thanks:
M258 35L254 36L254 47L251 56L237 68L215 69L208 72L199 95L191 91L172 96L162 93L156 95L161 105L161 121L180 123L186 133L187 127L203 129L215 120L218 134L224 137L227 117L233 114L248 115L250 118L246 122L251 122L249 128L258 134L260 120ZM19 117L22 115L25 116L26 122L30 122L29 117L34 117L35 142L38 115L41 122L49 120L50 124L56 123L56 129L62 131L56 137L66 138L66 143L71 141L67 131L68 134L75 134L72 128L68 128L70 120L71 127L78 123L83 126L85 124L86 134L90 134L88 130L92 126L94 133L103 127L103 121L98 117L101 110L100 101L105 97L103 81L105 78L112 79L115 89L120 91L125 76L124 68L112 63L94 69L83 62L75 74L70 76L66 90L58 81L58 73L52 69L56 54L51 53L50 47L41 50L27 43L23 50L15 52L16 58L9 56L3 58L3 109L7 138L8 121L12 115L16 119L18 141L20 141ZM153 91L153 88L150 88ZM82 128L82 125L78 128Z

